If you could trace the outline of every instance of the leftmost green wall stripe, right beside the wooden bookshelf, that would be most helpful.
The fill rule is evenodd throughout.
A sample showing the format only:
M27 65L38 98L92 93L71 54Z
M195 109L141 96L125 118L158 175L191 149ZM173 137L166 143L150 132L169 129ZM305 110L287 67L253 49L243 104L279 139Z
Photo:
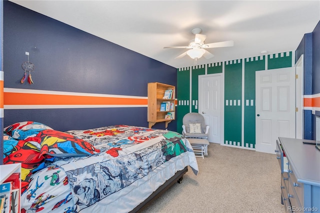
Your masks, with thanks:
M177 109L176 109L176 129L177 132L182 133L182 118L184 114L189 112L190 104L190 68L177 69ZM187 104L187 100L189 104ZM186 104L184 104L184 102ZM180 104L179 104L180 103Z

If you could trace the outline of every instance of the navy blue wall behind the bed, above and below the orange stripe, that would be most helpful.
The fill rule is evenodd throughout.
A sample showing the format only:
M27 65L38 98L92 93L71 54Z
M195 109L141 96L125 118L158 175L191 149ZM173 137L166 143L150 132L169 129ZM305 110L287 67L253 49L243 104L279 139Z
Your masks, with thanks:
M3 2L3 10L5 88L146 97L148 82L176 86L176 68L172 66L10 1ZM26 51L35 65L33 84L20 83ZM57 130L112 124L147 126L147 108L4 110L4 126L24 120L43 122ZM164 123L153 127L164 128ZM176 122L169 123L168 129L176 130Z

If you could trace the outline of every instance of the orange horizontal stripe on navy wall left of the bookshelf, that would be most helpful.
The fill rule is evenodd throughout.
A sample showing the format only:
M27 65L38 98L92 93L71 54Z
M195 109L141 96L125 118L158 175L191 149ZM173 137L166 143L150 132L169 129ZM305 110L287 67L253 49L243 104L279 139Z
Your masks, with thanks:
M4 105L146 105L147 99L4 92Z

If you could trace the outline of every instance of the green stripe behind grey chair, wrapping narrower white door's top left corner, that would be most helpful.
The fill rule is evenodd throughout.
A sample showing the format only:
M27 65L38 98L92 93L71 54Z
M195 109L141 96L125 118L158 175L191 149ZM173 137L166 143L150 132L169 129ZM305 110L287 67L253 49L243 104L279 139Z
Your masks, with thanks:
M205 66L198 65L192 66L192 76L191 76L191 112L198 112L198 76L205 74ZM194 102L194 104L193 104ZM197 103L197 104L196 104Z

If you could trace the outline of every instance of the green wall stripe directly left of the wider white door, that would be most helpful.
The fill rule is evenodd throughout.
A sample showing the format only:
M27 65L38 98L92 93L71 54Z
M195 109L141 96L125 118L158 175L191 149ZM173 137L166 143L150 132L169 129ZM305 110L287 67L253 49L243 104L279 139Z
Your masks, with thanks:
M264 69L264 55L244 59L243 143L245 147L255 148L255 71Z

